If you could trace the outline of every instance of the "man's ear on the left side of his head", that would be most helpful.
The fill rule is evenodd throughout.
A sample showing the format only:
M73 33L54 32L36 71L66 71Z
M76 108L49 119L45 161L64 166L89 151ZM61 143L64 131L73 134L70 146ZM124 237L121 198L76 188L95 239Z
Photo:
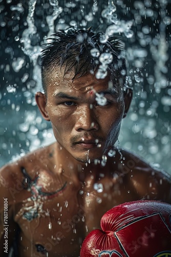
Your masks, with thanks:
M41 92L37 92L35 94L35 100L37 103L37 106L39 108L39 111L42 115L42 117L47 120L50 121L48 113L47 113L47 109L46 109L46 96L44 93Z

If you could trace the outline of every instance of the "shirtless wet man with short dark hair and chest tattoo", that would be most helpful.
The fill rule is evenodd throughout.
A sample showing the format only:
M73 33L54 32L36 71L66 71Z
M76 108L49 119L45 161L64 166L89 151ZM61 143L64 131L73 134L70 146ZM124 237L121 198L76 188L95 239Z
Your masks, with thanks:
M4 203L8 252L15 238L21 257L79 256L83 239L112 207L139 199L171 203L167 174L114 148L132 99L120 43L102 44L91 29L56 35L42 52L45 94L36 94L56 142L1 169L1 256Z

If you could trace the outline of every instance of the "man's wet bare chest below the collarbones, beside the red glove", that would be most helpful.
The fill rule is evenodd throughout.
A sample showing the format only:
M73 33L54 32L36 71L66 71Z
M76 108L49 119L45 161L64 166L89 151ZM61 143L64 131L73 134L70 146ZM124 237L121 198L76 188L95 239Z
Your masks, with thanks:
M79 256L86 235L100 228L102 215L125 198L119 182L75 183L65 177L51 181L47 186L34 179L24 191L26 199L16 206L20 255Z

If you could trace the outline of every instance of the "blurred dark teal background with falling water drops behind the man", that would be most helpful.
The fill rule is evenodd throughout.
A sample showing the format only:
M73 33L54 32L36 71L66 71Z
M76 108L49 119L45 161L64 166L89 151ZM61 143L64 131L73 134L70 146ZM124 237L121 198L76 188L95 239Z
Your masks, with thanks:
M69 26L123 41L134 99L117 143L171 174L170 0L0 0L0 167L54 141L34 94L41 45Z

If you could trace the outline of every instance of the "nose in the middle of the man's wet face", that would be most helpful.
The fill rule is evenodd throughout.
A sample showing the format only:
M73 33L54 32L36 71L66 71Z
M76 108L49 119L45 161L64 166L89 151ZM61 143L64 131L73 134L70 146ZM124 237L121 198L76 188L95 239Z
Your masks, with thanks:
M99 129L97 116L95 115L94 110L90 109L90 106L80 109L76 119L77 119L75 123L76 131L81 131L81 130L90 131L90 130Z

